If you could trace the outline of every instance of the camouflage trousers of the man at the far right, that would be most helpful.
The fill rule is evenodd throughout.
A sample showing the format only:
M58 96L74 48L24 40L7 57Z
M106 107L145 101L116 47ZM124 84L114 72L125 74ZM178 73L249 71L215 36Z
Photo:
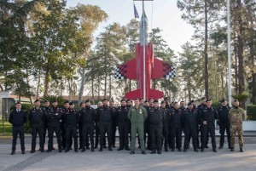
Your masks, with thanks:
M239 146L240 148L243 147L243 138L242 138L242 125L230 125L230 147L234 148L235 147L235 138L236 138L236 133L238 135L239 139Z

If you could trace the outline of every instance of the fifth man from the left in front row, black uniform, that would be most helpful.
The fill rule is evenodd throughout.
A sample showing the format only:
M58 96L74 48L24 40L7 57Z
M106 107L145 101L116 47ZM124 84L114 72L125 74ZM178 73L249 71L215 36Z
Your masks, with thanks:
M79 111L80 123L83 125L83 145L82 152L85 151L85 145L89 141L88 134L90 134L90 151L94 152L94 125L96 120L96 111L90 107L90 100L85 101L85 107Z

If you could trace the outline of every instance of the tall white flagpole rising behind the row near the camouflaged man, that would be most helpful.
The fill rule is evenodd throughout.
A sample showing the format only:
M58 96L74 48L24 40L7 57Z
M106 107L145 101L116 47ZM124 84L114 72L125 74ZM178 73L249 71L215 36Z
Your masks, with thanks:
M227 0L227 33L228 33L228 72L229 72L229 105L231 105L232 90L231 90L231 56L230 56L230 0Z

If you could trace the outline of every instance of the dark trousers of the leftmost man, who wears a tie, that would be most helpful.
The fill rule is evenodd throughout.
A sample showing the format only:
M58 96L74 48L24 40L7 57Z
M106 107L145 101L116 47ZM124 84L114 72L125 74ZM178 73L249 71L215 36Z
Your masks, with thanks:
M20 147L21 151L25 151L25 140L24 140L24 126L14 126L12 129L13 132L13 145L12 145L12 151L16 150L16 143L17 143L17 137L19 134L20 137Z

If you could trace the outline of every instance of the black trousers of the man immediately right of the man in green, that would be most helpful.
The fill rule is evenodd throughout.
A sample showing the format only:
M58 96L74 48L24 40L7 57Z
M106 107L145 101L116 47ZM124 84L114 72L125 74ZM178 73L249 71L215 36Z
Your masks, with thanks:
M162 126L150 126L152 151L161 151L162 149L162 130Z

